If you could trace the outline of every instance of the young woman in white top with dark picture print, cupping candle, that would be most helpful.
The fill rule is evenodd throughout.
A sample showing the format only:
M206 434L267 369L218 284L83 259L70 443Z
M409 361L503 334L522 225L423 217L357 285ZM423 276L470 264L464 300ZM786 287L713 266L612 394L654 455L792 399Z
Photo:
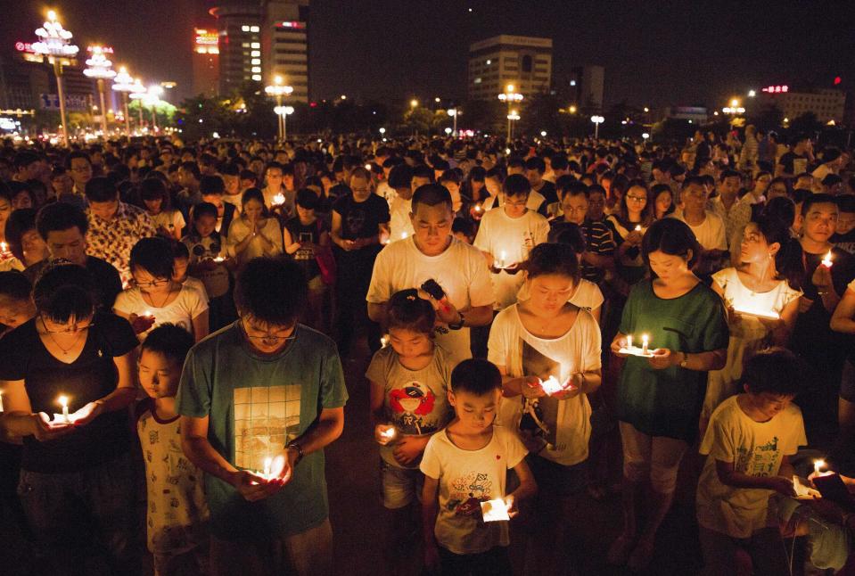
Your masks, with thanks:
M569 245L536 246L526 267L529 298L493 320L488 359L505 377L500 423L519 429L542 495L527 572L548 574L572 562L562 556L580 528L570 519L588 482L588 394L601 383L601 338L588 311L569 301L580 278Z

